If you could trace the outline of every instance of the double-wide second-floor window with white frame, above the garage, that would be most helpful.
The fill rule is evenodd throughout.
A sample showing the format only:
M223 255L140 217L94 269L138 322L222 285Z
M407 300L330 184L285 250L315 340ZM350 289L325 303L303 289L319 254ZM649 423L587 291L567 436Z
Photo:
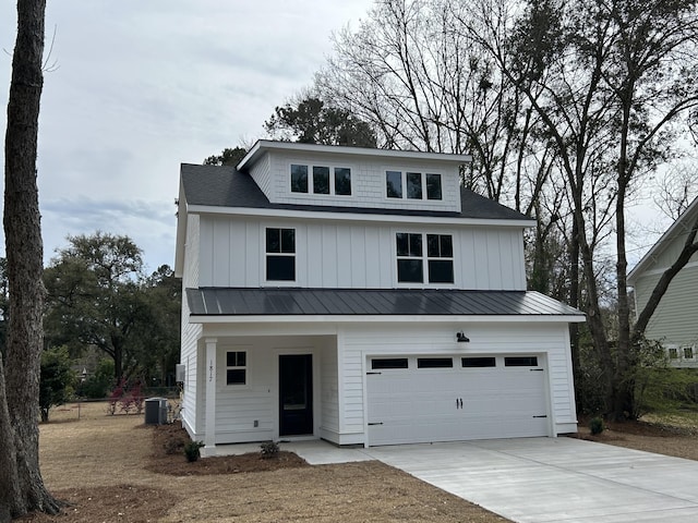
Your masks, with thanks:
M399 283L454 283L450 234L398 232L395 240Z

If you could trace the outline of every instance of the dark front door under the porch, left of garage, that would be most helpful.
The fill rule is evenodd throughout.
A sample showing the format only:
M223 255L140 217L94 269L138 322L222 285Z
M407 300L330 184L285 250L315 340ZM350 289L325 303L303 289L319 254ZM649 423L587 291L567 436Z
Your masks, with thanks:
M313 434L313 355L279 356L279 436Z

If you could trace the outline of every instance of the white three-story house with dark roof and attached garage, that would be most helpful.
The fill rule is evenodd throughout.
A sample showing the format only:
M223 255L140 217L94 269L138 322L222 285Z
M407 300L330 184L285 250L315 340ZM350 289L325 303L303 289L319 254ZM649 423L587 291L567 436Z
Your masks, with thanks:
M389 445L577 428L568 323L526 291L534 222L468 156L261 141L182 165L183 423L215 445Z

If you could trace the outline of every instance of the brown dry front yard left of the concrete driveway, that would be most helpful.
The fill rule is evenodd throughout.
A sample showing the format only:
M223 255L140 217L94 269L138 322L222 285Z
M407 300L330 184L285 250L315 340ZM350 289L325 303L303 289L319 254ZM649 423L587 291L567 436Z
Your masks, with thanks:
M159 433L159 434L158 434ZM504 522L378 462L310 466L234 457L189 464L167 430L143 415L106 415L106 405L70 405L41 425L41 474L69 504L63 514L22 522ZM217 460L214 463L214 460ZM241 472L250 462L263 472ZM246 465L242 463L246 462ZM206 469L208 467L208 471Z

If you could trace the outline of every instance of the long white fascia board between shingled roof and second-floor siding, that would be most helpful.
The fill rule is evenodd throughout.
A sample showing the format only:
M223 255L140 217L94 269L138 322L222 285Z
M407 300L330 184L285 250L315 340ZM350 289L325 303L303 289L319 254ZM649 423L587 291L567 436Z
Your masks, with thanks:
M535 220L496 220L482 218L452 218L421 215L378 215L362 212L304 211L287 209L260 209L254 207L210 207L192 205L189 212L200 215L254 216L264 218L300 218L337 221L375 221L386 223L479 224L497 227L534 227Z

